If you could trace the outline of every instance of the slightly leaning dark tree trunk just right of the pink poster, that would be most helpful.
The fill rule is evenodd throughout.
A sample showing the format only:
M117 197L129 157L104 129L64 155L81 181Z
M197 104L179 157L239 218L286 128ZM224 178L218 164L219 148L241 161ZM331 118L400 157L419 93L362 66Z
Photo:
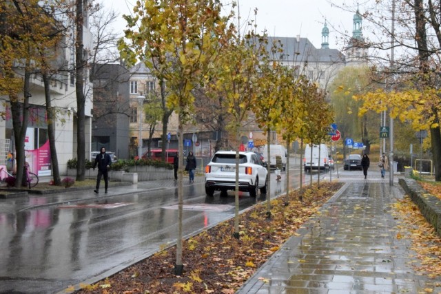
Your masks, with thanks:
M50 160L52 161L52 174L53 174L52 176L54 179L54 185L59 186L61 185L61 177L58 166L57 147L55 146L55 131L54 131L54 122L56 118L50 100L50 85L47 74L43 74L43 83L44 83L44 94L46 100L46 115L48 116L48 137L49 137L49 147L50 147Z

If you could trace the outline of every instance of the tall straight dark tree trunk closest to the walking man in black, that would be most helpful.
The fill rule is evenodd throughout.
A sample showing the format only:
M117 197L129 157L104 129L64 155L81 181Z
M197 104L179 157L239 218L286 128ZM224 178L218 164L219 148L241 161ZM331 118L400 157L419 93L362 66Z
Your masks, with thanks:
M76 0L75 92L76 92L76 180L85 179L85 95L83 56L83 0Z

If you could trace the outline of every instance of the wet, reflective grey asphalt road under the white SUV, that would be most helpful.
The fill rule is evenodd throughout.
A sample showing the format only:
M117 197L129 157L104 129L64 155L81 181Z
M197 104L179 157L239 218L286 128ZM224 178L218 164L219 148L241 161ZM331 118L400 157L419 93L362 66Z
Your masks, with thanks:
M298 187L298 167L290 175L291 189ZM285 173L282 176L276 182L271 173L272 197L285 191ZM265 197L240 193L240 210ZM65 203L59 203L61 199ZM0 293L57 293L100 280L152 255L160 246L174 244L177 203L174 180L112 188L109 195L99 197L81 191L0 200ZM184 235L232 216L232 191L226 197L219 193L207 197L203 177L193 184L184 182Z

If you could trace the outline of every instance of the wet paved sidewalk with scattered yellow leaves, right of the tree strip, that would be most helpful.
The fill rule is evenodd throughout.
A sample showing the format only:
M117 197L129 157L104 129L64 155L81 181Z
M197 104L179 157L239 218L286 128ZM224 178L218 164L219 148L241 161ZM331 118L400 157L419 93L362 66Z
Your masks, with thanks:
M415 253L391 214L404 193L372 178L347 179L237 293L424 293L429 278L409 266Z

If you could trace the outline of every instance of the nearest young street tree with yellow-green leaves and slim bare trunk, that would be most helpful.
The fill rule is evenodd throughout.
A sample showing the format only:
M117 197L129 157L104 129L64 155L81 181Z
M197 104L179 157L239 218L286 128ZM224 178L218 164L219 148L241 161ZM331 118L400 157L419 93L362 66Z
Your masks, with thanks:
M214 59L227 42L227 17L221 16L219 1L145 0L137 1L134 17L125 16L128 29L119 43L121 57L129 64L136 59L145 62L170 91L168 105L178 113L178 132L183 138L183 126L192 120L196 85L209 79ZM160 70L152 60L159 59ZM183 158L183 140L179 140L179 157ZM178 235L175 273L183 272L183 162L178 171Z

